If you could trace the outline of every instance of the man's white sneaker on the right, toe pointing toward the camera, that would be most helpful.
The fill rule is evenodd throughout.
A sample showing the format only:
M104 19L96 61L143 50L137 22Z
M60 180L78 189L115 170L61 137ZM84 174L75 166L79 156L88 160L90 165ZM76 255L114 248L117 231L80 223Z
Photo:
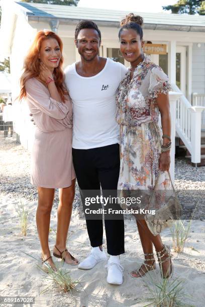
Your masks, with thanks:
M120 264L120 260L115 262L110 260L108 260L108 264L105 266L108 268L107 281L112 284L122 284L124 267Z

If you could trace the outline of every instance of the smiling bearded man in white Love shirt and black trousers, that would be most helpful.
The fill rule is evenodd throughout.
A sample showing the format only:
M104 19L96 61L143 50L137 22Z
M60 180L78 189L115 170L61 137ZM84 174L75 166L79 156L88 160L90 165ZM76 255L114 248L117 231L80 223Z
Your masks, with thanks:
M73 164L85 213L89 207L97 208L96 204L86 207L86 191L94 197L100 196L100 187L103 195L109 190L117 192L120 170L116 91L127 69L121 63L99 57L100 42L97 25L80 22L75 30L75 44L81 60L65 69L65 83L73 102ZM120 209L118 204L111 206ZM102 248L102 214L85 217L92 249L78 267L91 269L107 260L107 256ZM119 255L125 252L123 217L105 217L105 229L110 254L107 281L122 284Z

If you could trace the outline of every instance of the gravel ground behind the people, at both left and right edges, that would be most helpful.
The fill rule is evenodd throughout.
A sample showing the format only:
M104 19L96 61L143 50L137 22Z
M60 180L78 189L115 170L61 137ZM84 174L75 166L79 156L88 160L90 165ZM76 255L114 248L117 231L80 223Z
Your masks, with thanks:
M0 193L14 198L37 200L36 188L30 184L30 153L19 143L15 136L4 139L0 134ZM175 189L184 209L184 218L191 216L196 204L196 219L205 219L205 167L195 167L185 159L175 160ZM55 193L54 206L58 204L58 191ZM79 189L73 207L81 208ZM81 211L81 210L79 210ZM80 212L81 213L81 212Z

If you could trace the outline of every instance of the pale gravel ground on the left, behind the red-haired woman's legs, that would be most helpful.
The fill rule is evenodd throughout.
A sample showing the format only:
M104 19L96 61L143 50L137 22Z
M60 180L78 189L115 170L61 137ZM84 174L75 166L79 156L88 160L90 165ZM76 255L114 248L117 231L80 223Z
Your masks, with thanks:
M0 131L0 195L10 194L14 198L29 201L38 199L36 187L30 183L30 152L16 142L15 135L4 139ZM54 206L58 205L58 190L55 191ZM73 208L80 205L79 189Z

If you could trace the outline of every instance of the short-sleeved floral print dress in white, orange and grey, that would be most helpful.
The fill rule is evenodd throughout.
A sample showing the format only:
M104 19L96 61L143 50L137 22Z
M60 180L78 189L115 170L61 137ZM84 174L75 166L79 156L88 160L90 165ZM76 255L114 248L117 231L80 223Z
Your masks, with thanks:
M159 172L162 131L158 125L158 93L171 90L161 67L144 55L130 81L129 69L117 91L117 115L120 125L121 165L118 190L152 191ZM158 189L170 187L167 172ZM146 192L146 191L145 191Z

